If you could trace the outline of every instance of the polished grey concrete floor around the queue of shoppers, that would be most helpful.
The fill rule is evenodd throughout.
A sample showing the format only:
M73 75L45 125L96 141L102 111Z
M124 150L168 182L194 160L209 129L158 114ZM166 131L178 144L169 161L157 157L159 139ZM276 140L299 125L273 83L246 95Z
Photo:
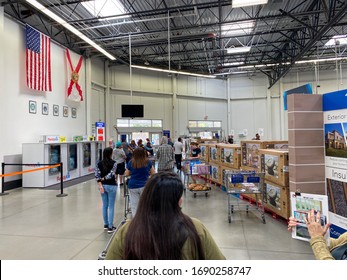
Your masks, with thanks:
M14 189L0 196L0 259L96 260L110 234L104 232L101 198L95 180L60 190ZM291 238L286 221L257 211L227 215L227 194L212 187L207 197L187 191L183 211L200 219L230 260L310 260L307 242ZM232 197L233 203L239 200ZM240 201L244 203L244 201ZM118 187L115 224L124 217L123 187Z

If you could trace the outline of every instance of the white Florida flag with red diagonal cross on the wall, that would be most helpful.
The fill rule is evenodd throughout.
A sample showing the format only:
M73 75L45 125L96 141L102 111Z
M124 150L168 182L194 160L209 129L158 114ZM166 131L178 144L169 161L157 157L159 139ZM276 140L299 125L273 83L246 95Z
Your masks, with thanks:
M78 83L79 79L79 71L82 66L83 57L81 56L77 66L74 68L71 61L70 52L68 49L66 49L66 58L68 62L68 88L67 88L67 97L73 101L83 101L83 93L81 86Z

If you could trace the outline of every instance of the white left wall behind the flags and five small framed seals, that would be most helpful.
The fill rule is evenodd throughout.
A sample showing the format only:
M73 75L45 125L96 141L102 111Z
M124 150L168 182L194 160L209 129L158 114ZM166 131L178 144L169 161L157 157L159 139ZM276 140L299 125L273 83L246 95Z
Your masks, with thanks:
M67 99L67 62L65 49L51 43L52 92L28 89L25 81L25 29L11 19L4 18L4 32L0 33L2 70L0 91L0 159L6 155L22 154L22 143L37 142L41 135L73 135L86 133L84 102ZM70 52L73 64L79 56ZM83 62L84 63L84 62ZM85 70L80 70L79 83L85 89ZM29 113L29 100L36 101L37 113ZM49 104L49 114L42 115L42 103ZM53 116L53 104L59 105L59 116ZM63 106L69 108L69 117L63 117ZM77 118L71 117L71 108L77 109Z

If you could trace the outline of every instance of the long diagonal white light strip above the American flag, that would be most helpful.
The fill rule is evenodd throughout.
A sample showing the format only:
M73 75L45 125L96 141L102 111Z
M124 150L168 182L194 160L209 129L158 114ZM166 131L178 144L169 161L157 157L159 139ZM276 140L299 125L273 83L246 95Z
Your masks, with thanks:
M46 14L49 16L51 19L55 20L59 24L61 24L63 27L66 29L70 30L73 34L77 35L80 37L83 41L97 49L99 52L107 56L111 60L116 60L116 58L109 54L107 51L105 51L103 48L101 48L99 45L97 45L95 42L93 42L91 39L89 39L87 36L85 36L83 33L78 31L75 27L73 27L71 24L67 23L65 20L63 20L61 17L57 16L55 13L51 12L48 10L46 7L41 5L39 2L36 0L26 0L30 5L34 6L36 9L40 10L42 13Z

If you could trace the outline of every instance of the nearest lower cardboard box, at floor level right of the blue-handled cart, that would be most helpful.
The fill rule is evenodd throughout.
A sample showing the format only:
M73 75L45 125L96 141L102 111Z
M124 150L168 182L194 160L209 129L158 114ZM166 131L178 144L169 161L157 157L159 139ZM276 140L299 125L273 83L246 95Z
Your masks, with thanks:
M265 192L265 208L278 216L288 219L290 216L289 187L280 186L265 180Z

